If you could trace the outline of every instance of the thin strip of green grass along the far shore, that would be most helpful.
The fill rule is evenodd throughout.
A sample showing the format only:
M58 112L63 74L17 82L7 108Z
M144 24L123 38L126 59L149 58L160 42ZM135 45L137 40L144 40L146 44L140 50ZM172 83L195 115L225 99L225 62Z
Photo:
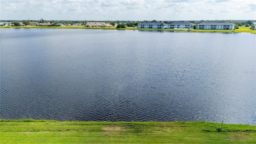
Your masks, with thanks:
M252 34L256 34L256 30L251 30L249 27L240 26L239 29L236 30L187 30L187 29L156 29L156 28L134 28L134 27L126 27L126 28L101 28L101 27L84 27L84 26L0 26L0 28L78 28L78 29L103 29L103 30L168 30L168 31L184 31L184 32L248 32Z

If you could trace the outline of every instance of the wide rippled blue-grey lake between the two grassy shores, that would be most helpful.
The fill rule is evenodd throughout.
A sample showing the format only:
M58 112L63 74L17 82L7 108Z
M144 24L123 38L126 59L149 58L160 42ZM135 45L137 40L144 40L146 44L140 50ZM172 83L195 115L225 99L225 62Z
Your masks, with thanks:
M256 34L0 32L1 119L256 124Z

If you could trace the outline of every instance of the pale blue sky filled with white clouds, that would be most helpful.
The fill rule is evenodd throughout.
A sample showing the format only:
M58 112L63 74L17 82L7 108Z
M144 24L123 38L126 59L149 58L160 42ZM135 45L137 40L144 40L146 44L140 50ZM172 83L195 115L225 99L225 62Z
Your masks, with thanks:
M0 0L0 20L256 20L256 0Z

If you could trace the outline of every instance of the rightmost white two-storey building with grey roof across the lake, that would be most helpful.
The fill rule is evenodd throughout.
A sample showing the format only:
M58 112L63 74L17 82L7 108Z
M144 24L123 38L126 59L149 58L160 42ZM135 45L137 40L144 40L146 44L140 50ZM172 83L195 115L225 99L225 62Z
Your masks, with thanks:
M196 29L204 30L233 30L235 24L230 22L202 22L196 24Z

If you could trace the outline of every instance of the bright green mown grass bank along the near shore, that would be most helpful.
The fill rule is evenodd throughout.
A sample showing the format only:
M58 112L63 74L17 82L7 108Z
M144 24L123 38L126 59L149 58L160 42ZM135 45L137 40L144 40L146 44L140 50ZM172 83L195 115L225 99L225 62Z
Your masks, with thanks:
M213 122L0 120L1 144L255 144L256 126Z

